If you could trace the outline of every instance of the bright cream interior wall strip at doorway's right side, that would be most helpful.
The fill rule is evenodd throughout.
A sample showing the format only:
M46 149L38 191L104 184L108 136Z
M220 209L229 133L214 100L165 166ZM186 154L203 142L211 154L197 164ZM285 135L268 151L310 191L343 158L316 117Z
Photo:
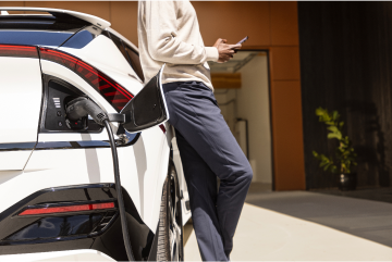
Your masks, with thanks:
M254 180L272 184L271 125L268 85L268 57L260 53L240 70L242 88L237 93L237 117L248 121L249 161Z

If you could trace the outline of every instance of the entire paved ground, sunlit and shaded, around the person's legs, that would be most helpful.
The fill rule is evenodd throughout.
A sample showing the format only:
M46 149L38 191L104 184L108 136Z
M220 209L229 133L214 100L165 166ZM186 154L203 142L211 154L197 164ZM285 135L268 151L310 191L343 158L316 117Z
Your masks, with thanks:
M392 204L307 191L250 194L233 262L392 262ZM192 225L185 261L200 262Z

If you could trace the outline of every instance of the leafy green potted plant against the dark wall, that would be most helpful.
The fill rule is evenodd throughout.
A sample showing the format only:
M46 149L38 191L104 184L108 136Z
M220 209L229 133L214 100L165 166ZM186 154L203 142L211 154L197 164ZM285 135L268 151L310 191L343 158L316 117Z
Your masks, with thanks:
M355 190L356 188L356 173L353 173L352 167L357 165L357 154L352 147L348 136L343 136L344 122L340 121L338 111L332 113L327 109L316 109L316 115L319 116L319 122L327 125L328 139L335 139L338 147L334 157L327 157L322 153L313 151L316 159L320 161L320 167L324 171L339 174L339 189L341 190Z

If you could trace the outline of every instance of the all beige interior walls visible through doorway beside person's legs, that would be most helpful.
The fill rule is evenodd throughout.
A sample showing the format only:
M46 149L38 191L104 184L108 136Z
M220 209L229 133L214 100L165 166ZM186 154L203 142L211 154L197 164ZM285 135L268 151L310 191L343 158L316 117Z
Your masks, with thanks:
M272 185L272 151L271 151L271 121L269 98L268 57L260 52L253 58L241 73L241 88L217 89L215 96L221 113L240 146L242 136L237 118L247 120L248 159L254 171L253 182ZM244 134L242 134L244 135ZM242 141L246 144L246 141ZM268 185L267 185L268 184Z

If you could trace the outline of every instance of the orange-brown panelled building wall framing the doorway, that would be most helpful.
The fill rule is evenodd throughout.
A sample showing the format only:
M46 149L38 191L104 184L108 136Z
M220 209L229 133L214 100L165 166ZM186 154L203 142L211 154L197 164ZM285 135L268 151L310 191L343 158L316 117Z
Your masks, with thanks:
M296 0L192 0L206 46L217 38L270 52L273 171L277 190L304 189ZM60 8L100 16L137 43L136 0L0 0L0 5Z

